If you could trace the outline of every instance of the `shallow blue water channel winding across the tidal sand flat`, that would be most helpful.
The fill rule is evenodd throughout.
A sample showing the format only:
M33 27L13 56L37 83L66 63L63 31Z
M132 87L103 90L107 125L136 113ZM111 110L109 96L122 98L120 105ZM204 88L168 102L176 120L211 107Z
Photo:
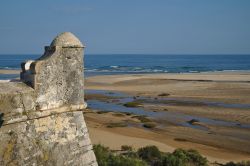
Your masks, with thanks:
M115 92L115 91L105 91L105 90L86 90L87 94L102 94L106 96L116 97L118 98L117 102L104 102L99 100L88 100L88 106L92 109L97 109L100 111L113 111L113 112L129 112L136 115L144 115L148 117L152 117L155 119L159 119L161 121L171 122L177 125L185 126L185 127L191 127L195 129L200 130L208 130L207 127L201 126L201 125L193 125L188 123L188 121L192 119L198 120L198 122L207 124L207 125L216 125L216 126L223 126L223 127L236 127L236 128L244 128L244 129L250 129L250 124L239 124L237 122L229 122L229 121L223 121L223 120L215 120L210 118L204 118L204 117L198 117L198 116L191 116L183 113L175 113L175 112L168 112L168 111L160 111L160 112L154 112L150 110L144 110L142 107L125 107L123 106L126 102L134 101L132 96ZM148 98L139 97L140 100L145 99L146 102L149 101ZM173 99L161 99L161 100L173 100ZM176 100L176 99L174 99ZM180 100L180 99L179 99ZM193 101L193 100L192 100ZM191 102L191 101L188 101ZM193 101L195 102L195 101ZM210 104L210 103L209 103ZM208 104L208 105L209 105ZM224 103L212 103L213 106L223 106L227 105ZM227 105L228 107L230 105ZM241 106L241 105L237 105Z

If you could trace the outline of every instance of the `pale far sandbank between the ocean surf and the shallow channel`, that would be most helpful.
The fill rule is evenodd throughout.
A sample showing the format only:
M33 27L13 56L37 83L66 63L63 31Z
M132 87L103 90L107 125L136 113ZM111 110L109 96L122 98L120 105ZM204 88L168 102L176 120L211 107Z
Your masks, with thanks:
M250 103L250 72L202 74L140 74L95 76L86 79L87 89L117 90L137 95Z

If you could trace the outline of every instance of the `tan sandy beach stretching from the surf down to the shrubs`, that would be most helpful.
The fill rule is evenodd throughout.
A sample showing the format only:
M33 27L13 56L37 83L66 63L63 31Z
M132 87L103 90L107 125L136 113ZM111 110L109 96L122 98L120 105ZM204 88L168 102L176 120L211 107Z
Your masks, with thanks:
M142 103L145 111L167 113L152 118L157 124L154 129L138 125L107 128L105 125L113 121L131 123L131 116L117 119L112 113L86 113L94 143L113 149L124 144L135 148L154 144L162 151L192 148L210 161L222 163L250 159L249 72L106 75L89 77L85 84L88 90L130 95ZM105 95L87 94L87 98L111 101ZM178 118L171 119L176 114ZM179 124L186 119L179 116L201 120L192 123L191 127L183 126ZM132 124L140 123L133 121L132 118Z

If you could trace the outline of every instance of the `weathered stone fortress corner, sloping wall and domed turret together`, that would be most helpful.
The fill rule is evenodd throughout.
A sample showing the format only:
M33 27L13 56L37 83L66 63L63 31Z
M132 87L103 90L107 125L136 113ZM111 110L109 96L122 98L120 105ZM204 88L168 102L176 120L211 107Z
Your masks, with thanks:
M84 121L82 43L58 35L21 81L0 83L0 165L97 165Z

